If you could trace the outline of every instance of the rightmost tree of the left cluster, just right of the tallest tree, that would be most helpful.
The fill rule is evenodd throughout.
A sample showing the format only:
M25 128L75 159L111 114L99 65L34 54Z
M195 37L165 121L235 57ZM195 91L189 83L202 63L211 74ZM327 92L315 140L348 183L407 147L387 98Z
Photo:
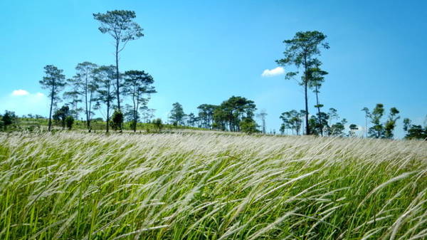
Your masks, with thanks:
M137 120L139 118L140 105L146 105L148 97L152 93L157 93L152 84L154 80L151 75L144 71L126 71L125 72L125 93L130 96L132 100L132 113L133 113L133 130L137 131ZM144 98L144 94L147 98Z

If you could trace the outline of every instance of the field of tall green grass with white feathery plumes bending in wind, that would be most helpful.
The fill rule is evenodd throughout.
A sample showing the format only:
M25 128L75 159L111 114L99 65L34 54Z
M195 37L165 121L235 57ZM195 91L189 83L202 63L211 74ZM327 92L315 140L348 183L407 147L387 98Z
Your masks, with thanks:
M426 238L426 142L0 134L0 239Z

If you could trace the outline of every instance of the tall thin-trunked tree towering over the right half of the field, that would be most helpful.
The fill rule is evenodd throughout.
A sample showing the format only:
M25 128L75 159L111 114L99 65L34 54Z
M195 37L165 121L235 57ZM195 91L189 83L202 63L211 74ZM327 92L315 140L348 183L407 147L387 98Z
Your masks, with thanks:
M308 124L308 95L307 90L310 82L312 81L312 75L310 69L315 68L316 65L321 62L316 58L320 56L320 47L325 49L330 48L329 44L325 42L326 35L320 31L305 31L297 32L292 39L285 40L285 58L277 60L276 63L280 66L294 65L297 68L302 67L303 73L301 75L300 85L304 87L304 100L305 100L305 127L306 134L310 135L310 125ZM286 73L286 78L293 78L298 72Z

